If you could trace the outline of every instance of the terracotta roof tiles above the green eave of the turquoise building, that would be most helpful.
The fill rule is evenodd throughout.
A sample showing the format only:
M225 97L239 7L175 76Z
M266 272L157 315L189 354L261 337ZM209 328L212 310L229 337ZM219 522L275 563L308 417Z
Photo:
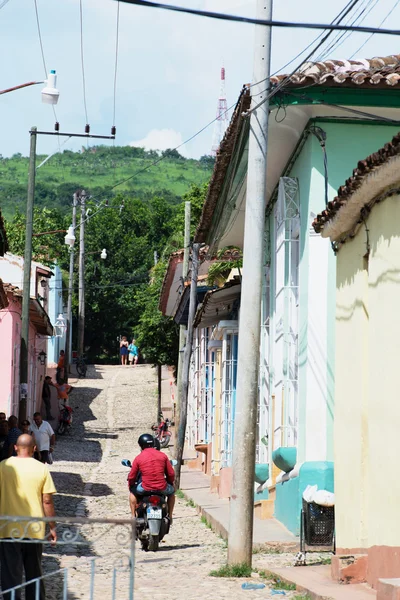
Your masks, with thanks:
M288 75L274 75L271 83L277 85ZM304 63L290 75L285 87L309 85L394 87L400 81L400 54L376 56L358 60L327 60Z

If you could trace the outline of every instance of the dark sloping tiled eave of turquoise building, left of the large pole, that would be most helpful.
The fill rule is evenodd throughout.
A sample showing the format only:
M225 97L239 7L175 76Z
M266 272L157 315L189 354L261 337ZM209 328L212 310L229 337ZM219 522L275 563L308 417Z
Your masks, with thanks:
M249 110L250 104L250 89L249 86L244 86L240 92L231 122L226 130L225 136L217 153L213 174L208 187L207 197L205 199L200 222L197 226L194 236L195 242L205 243L207 240L207 233L210 229L214 210L224 184L229 163L235 150L236 141L239 139L240 132L243 127L244 118L242 113Z

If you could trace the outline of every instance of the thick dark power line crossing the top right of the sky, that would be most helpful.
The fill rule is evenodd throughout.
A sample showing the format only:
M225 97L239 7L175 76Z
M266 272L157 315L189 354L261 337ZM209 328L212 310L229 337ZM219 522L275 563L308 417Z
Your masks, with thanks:
M200 17L209 17L220 21L233 21L236 23L248 23L250 25L263 25L265 27L284 27L294 29L330 29L332 31L357 31L359 33L379 33L383 35L400 35L399 29L378 29L376 27L359 27L353 25L336 25L321 23L295 23L293 21L275 21L265 19L254 19L252 17L241 17L239 15L229 15L226 13L211 12L206 10L197 10L194 8L184 8L182 6L173 6L170 4L161 4L159 2L150 2L148 0L118 0L127 4L135 4L147 8L161 8L173 12L181 12Z

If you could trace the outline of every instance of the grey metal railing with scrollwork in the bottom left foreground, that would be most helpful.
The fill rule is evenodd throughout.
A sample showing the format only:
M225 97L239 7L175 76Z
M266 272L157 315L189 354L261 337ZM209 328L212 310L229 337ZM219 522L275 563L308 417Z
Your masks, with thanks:
M29 586L40 600L43 585L51 600L75 597L133 600L136 523L134 519L57 517L57 541L46 533L51 518L0 516L0 544L42 544L43 573L2 590L5 600L17 600ZM4 536L4 537L3 537ZM58 568L54 568L54 563ZM34 586L34 588L32 588ZM72 595L71 595L72 594ZM79 596L81 597L81 595Z

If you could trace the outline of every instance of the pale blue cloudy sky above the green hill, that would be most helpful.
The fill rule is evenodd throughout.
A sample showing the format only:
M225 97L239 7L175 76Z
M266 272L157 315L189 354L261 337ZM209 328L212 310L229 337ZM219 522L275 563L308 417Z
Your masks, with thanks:
M169 1L169 0L168 0ZM56 107L60 130L83 133L86 116L83 101L80 2L36 0L47 69L56 69L60 100ZM256 0L171 0L171 4L255 16ZM0 2L0 6L3 3ZM347 0L279 0L274 18L330 22ZM364 25L400 22L400 0L360 0ZM394 8L395 7L395 8ZM369 14L368 11L372 9ZM82 0L83 53L88 122L91 132L109 135L113 123L113 82L116 44L115 0ZM283 68L317 35L315 30L273 32L272 71ZM368 38L352 34L337 46L330 58L349 58ZM176 147L204 127L216 115L220 69L226 69L228 106L233 105L243 84L252 80L254 26L136 7L120 3L119 53L116 92L116 144L134 144L163 150ZM356 53L371 58L399 52L394 36L373 36ZM9 0L0 9L0 89L44 79L35 0ZM297 65L297 60L293 65ZM292 66L292 65L290 65ZM0 96L0 154L29 152L29 129L52 131L52 108L41 103L42 86ZM198 158L210 154L213 126L180 152ZM62 139L63 143L65 139ZM94 142L111 144L112 142ZM59 142L39 136L38 152L50 154ZM66 140L62 149L79 150L86 140Z

